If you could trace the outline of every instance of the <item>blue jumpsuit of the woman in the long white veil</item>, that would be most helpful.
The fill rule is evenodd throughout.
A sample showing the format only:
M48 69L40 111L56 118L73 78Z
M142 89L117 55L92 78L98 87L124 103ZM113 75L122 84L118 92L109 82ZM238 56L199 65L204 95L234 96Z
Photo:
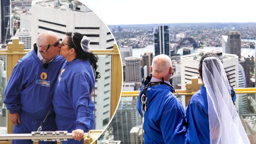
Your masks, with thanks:
M236 93L231 87L231 94L235 94L232 98L236 101ZM186 119L188 122L187 140L188 143L210 143L210 128L208 117L207 93L204 84L201 86L191 98L186 110Z

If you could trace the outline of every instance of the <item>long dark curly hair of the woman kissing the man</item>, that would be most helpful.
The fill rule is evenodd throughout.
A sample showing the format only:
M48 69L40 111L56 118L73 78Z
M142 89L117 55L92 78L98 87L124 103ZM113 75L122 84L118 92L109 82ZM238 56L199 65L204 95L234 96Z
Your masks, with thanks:
M77 32L73 32L73 33L74 33L73 40L72 40L72 32L66 33L66 35L68 36L68 44L69 44L68 48L75 49L77 59L90 60L93 71L95 72L95 80L100 78L100 73L96 71L97 62L98 62L97 55L95 56L92 52L84 52L84 50L81 47L81 40L83 39L84 35Z

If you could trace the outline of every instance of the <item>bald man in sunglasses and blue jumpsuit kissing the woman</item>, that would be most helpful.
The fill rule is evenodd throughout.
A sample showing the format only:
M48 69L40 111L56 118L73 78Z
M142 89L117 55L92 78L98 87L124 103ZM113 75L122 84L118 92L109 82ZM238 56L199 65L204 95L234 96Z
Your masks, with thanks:
M10 110L13 133L31 133L43 122L52 108L55 83L64 59L60 40L52 31L37 36L34 50L21 58L12 70L5 90L4 103ZM56 131L53 109L42 131ZM12 140L13 144L32 144L31 140ZM53 143L40 141L43 143Z

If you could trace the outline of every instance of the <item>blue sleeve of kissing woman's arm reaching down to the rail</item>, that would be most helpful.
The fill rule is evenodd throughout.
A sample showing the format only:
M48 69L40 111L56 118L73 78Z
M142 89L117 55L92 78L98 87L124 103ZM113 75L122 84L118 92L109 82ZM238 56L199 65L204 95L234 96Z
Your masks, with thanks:
M91 110L90 103L90 81L86 74L80 73L72 79L68 86L69 97L76 112L76 129L84 131L90 128Z

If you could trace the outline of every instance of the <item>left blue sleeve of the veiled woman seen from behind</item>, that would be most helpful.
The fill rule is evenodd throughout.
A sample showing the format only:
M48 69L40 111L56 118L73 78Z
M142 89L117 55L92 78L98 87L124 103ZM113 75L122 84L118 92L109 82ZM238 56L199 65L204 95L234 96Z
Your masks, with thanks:
M197 103L190 103L187 110L189 143L210 143L209 118L206 110Z

